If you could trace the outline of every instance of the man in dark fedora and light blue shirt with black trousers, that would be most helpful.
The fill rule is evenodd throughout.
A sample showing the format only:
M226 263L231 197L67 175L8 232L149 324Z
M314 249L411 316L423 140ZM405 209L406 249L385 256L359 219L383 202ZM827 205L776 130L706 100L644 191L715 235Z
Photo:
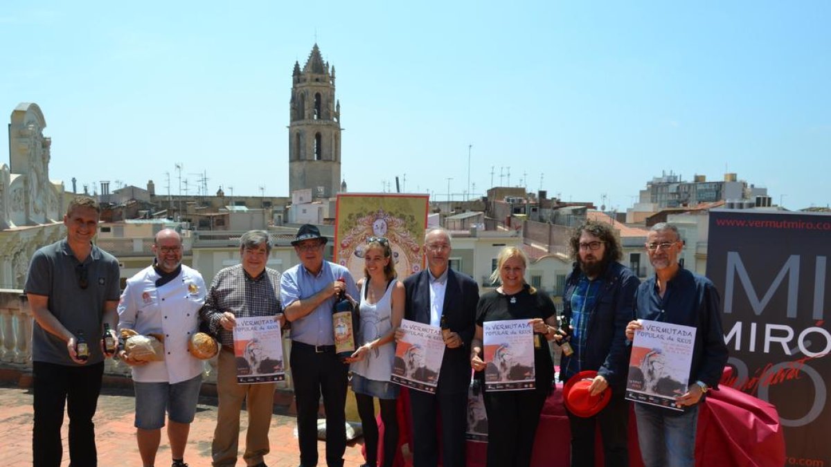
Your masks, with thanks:
M323 259L327 238L312 224L297 230L292 242L300 264L283 273L280 295L286 318L292 322L289 364L297 404L300 465L317 465L317 408L320 396L326 410L326 463L342 467L347 449L347 372L349 365L335 354L332 307L346 292L358 297L349 270Z

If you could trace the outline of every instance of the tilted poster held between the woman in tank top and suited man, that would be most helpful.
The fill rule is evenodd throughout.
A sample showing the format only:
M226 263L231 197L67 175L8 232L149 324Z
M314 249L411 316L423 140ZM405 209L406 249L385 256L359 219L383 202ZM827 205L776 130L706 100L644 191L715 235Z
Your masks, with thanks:
M445 358L441 328L405 319L401 320L401 330L404 331L404 338L396 346L391 381L418 391L435 393L441 361Z

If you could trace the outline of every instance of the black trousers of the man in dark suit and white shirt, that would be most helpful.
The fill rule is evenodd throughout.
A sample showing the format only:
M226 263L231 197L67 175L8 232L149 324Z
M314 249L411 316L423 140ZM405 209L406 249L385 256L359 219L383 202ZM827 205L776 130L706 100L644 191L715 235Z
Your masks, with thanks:
M413 467L439 465L437 415L441 415L441 465L465 467L467 391L429 394L410 390Z

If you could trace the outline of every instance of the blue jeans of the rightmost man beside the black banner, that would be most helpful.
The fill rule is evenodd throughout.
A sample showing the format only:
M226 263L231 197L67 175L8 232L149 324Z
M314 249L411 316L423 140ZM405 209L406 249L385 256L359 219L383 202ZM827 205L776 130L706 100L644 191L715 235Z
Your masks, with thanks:
M646 467L694 467L698 406L676 412L635 404L637 441Z

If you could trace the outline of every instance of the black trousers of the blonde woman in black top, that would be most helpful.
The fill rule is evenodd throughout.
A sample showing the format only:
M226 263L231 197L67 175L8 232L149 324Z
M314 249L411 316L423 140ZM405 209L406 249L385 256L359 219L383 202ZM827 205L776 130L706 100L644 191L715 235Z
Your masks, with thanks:
M548 390L485 391L488 467L528 467Z

